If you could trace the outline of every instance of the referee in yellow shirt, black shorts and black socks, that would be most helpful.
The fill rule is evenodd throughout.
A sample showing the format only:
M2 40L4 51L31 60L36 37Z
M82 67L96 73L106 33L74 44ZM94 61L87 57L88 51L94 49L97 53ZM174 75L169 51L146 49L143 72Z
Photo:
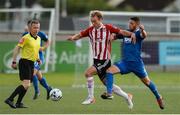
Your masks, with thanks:
M37 33L40 30L40 23L38 20L32 20L29 25L30 32L23 36L18 45L14 48L12 68L17 69L16 58L21 50L21 59L19 60L19 77L22 84L19 85L14 92L5 100L11 108L27 108L22 103L22 99L26 91L30 87L31 79L33 77L34 62L39 60L40 37ZM18 96L16 104L14 98Z

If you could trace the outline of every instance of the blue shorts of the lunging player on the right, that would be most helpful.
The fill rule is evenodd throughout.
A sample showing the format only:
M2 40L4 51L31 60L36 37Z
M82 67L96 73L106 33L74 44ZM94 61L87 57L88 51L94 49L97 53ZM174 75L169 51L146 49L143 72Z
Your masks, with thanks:
M148 76L147 71L144 67L143 61L118 61L114 64L120 70L121 74L134 73L139 78L145 78Z

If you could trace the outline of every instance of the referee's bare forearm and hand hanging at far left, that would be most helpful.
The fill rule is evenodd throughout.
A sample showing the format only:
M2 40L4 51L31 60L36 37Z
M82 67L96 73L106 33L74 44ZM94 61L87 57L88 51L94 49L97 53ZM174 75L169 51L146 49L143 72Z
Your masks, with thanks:
M16 46L16 47L14 48L14 51L13 51L13 61L12 61L12 65L11 65L11 67L12 67L13 69L17 69L16 58L17 58L17 55L18 55L19 52L20 52L20 49L21 49L21 47L19 47L19 46Z

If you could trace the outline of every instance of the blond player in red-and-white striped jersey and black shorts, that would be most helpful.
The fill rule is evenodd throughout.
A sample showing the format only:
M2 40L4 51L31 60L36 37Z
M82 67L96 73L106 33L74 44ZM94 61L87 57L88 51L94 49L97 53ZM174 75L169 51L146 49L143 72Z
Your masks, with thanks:
M101 81L105 84L105 72L106 69L111 66L111 34L119 33L125 36L132 36L132 38L135 37L132 32L121 30L109 24L103 24L102 20L103 16L100 11L92 11L92 26L68 38L70 41L75 41L83 37L89 37L93 50L94 64L85 72L88 97L85 101L82 102L82 104L92 104L95 102L93 75L98 74ZM127 100L129 107L132 108L133 104L131 95L125 93L119 86L115 84L113 85L113 91L117 95L124 97Z

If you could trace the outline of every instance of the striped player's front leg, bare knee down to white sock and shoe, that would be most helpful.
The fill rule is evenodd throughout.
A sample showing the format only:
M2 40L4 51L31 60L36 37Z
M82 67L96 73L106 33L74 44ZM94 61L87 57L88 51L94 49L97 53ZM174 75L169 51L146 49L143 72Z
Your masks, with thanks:
M95 74L97 74L97 70L94 66L91 66L85 72L85 77L86 77L86 81L87 81L87 88L88 88L88 97L82 102L83 105L95 103L94 79L93 79L93 75L95 75Z

